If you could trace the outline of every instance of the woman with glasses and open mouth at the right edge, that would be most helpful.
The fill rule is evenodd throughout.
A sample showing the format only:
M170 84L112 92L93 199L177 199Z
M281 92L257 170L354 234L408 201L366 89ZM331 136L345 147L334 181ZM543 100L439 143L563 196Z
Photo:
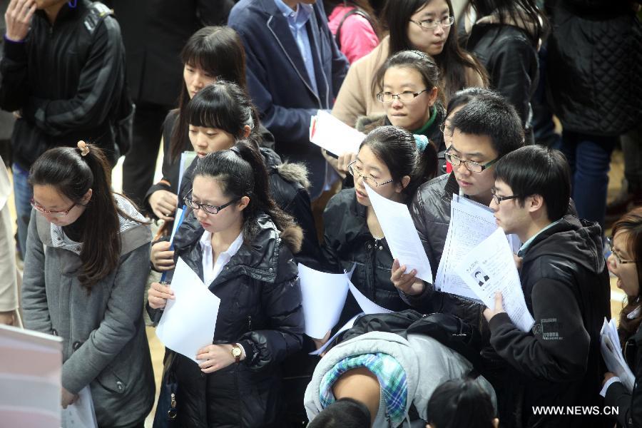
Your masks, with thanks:
M636 382L629 391L616 377L604 375L602 393L606 406L619 407L616 416L622 427L642 426L642 208L623 215L613 225L608 270L618 278L618 288L626 294L626 305L620 312L618 334L624 357Z

